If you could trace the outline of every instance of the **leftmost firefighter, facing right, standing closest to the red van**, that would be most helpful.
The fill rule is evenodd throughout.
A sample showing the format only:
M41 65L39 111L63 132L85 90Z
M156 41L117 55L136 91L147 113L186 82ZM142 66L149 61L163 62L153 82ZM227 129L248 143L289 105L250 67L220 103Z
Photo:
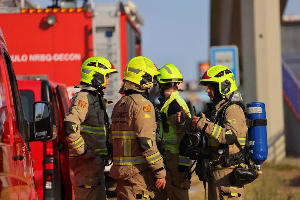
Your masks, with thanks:
M81 67L80 92L72 97L64 120L69 142L69 165L74 171L75 199L106 197L104 168L108 160L110 133L106 102L103 98L110 74L118 73L114 65L102 57L88 58Z

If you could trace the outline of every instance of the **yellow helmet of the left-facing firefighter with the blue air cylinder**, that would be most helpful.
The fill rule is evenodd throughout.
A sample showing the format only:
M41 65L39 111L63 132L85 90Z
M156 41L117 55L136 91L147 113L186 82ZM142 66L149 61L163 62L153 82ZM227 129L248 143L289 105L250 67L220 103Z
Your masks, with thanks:
M199 85L207 85L207 83L218 83L219 92L224 96L238 89L232 71L222 65L215 65L204 73Z

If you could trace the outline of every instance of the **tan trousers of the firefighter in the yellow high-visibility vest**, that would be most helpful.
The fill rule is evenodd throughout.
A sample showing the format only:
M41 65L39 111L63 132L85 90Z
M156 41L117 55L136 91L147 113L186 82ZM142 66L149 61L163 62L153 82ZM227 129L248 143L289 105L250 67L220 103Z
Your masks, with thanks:
M189 200L188 189L191 182L185 180L183 183L179 178L183 178L186 172L178 172L179 157L178 154L172 154L166 151L166 186L165 189L155 190L155 200Z

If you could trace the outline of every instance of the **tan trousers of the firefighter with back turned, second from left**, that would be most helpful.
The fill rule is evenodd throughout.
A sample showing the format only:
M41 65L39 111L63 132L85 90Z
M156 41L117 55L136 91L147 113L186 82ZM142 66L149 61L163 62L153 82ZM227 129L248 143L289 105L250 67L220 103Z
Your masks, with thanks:
M140 172L126 181L117 180L117 199L153 199L155 180L151 170Z

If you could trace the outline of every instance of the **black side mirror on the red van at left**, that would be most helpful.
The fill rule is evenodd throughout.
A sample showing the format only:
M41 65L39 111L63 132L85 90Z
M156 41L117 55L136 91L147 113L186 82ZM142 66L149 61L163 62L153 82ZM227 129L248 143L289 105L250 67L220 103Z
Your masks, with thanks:
M49 102L33 103L32 141L50 141L56 138L56 126L53 125L53 109Z

